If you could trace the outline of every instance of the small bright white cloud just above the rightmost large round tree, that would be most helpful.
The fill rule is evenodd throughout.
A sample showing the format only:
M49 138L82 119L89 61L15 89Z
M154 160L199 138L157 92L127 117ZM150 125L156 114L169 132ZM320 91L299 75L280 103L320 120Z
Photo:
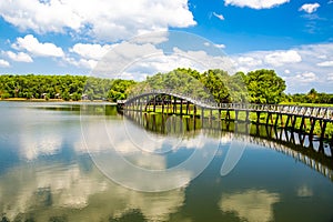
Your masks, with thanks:
M302 57L295 50L276 51L265 56L265 62L273 67L281 67L286 63L301 62Z

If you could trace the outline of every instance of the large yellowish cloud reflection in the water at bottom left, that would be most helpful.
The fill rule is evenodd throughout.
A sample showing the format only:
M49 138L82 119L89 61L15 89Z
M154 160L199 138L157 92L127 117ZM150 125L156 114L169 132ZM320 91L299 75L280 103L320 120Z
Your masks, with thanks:
M105 221L131 209L139 209L150 221L164 221L182 206L184 190L137 192L111 183L95 168L84 173L77 164L48 164L12 169L1 178L0 196L0 212L11 221L19 214L36 215L36 221L54 214L69 221Z

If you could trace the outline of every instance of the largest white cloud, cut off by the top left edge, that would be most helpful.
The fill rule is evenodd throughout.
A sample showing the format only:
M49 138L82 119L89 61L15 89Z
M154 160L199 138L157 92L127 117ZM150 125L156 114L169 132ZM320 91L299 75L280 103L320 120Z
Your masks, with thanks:
M21 30L71 30L110 41L195 24L188 0L0 1L0 16Z

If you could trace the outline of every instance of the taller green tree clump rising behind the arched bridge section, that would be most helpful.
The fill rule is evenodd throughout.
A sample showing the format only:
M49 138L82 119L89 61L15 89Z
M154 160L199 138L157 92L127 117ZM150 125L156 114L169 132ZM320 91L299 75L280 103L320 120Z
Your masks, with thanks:
M278 77L274 70L262 69L246 74L238 72L230 75L220 69L200 73L196 70L179 68L169 73L149 77L137 88L138 91L142 89L172 89L181 93L192 94L192 97L213 97L219 103L279 103L284 98L285 82ZM206 93L203 92L202 88L206 89Z

